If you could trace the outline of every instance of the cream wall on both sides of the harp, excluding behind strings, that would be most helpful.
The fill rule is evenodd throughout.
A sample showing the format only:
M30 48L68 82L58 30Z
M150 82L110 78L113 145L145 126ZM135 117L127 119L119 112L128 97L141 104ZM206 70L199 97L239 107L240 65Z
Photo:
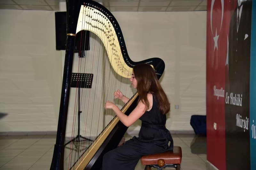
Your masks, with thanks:
M193 132L191 115L206 114L206 11L113 15L133 61L165 62L160 81L172 107L167 128ZM0 10L0 22L0 113L7 114L0 134L56 131L64 53L55 50L54 11Z

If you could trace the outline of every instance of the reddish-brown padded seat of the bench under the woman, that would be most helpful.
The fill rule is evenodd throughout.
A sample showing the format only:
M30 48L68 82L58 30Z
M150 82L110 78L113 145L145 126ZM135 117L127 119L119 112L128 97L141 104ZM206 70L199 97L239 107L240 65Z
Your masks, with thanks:
M142 156L140 162L142 165L146 165L145 170L150 170L151 167L157 168L158 170L166 167L180 170L181 157L181 147L173 146L173 151Z

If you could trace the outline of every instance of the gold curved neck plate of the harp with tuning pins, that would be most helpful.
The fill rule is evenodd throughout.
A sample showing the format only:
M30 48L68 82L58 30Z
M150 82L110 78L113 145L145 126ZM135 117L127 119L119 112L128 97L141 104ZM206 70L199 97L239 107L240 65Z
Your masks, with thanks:
M89 4L88 4L89 5ZM81 5L76 33L81 30L88 30L95 33L103 42L108 53L108 58L115 72L125 78L132 76L132 67L125 61L125 53L122 53L119 46L120 35L116 34L117 25L112 20L112 16L103 14L101 11L90 6ZM120 42L122 44L123 42Z

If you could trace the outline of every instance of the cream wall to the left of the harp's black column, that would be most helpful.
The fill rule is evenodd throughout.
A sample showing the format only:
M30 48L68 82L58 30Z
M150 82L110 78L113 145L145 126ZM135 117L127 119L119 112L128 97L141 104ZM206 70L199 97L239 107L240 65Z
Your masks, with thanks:
M56 131L61 52L54 11L0 10L0 131Z

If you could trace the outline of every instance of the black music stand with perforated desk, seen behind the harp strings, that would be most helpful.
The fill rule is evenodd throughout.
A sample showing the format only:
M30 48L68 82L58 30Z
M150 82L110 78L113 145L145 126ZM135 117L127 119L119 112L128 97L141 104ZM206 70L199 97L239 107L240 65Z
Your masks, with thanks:
M91 139L85 138L80 135L80 113L82 113L82 111L80 110L80 88L92 88L92 78L93 74L89 73L72 73L71 75L70 87L78 87L78 130L76 137L68 141L65 146L68 145L70 142L81 142L85 140L92 141Z

